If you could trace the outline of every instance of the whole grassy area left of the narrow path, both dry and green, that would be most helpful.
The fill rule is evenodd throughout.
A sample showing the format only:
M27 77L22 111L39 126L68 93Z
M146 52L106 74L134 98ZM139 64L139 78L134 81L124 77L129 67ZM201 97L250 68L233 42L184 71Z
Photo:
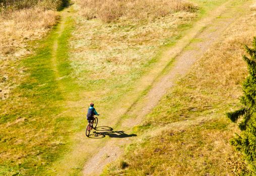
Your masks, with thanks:
M57 156L58 141L65 137L56 130L61 120L52 118L64 99L50 61L60 4L31 2L4 2L0 12L0 175L36 174ZM67 42L61 41L66 47Z

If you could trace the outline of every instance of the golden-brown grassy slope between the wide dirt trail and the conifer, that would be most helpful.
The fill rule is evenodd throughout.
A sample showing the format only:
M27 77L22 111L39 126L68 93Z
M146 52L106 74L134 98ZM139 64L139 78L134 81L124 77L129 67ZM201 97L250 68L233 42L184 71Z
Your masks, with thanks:
M251 174L229 144L239 130L225 116L241 106L247 75L241 54L255 35L255 8L246 14L134 128L141 137L103 175Z

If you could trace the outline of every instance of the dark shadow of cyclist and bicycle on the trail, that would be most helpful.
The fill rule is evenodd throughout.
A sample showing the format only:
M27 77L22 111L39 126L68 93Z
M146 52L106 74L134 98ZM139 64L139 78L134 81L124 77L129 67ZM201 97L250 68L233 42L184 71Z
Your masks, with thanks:
M136 134L126 134L124 131L113 131L113 128L108 126L100 126L96 127L95 131L91 133L88 137L89 138L104 138L104 137L111 137L111 138L125 138L125 137L133 137L137 136Z

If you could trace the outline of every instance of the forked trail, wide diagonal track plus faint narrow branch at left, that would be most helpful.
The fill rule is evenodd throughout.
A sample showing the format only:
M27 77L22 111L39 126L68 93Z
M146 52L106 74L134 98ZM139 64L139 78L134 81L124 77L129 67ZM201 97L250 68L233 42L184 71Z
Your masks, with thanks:
M104 121L99 118L99 124L107 126L115 126L115 130L125 130L125 133L132 133L132 128L138 125L143 117L147 115L160 99L166 94L167 90L175 84L178 77L184 75L191 65L195 63L210 47L218 40L223 31L233 23L237 17L241 16L243 11L237 11L238 8L245 9L247 6L231 5L232 1L211 12L207 17L198 21L193 28L187 31L187 35L180 39L175 46L163 53L162 57L155 63L147 75L138 81L138 87L126 97L130 97L129 101L120 100L118 109L109 110L111 119ZM65 30L65 18L71 17L71 13L67 13L68 9L62 13L63 21L59 24L57 32L60 34ZM224 18L218 18L218 17ZM193 40L198 39L198 40ZM61 79L58 75L57 59L54 52L57 52L57 40L54 43L52 65L56 73L57 79ZM197 42L191 42L197 41ZM171 68L169 64L172 62ZM163 74L165 70L165 74ZM142 93L149 89L147 94L140 98ZM61 91L65 91L65 85L61 85ZM86 95L86 93L85 93ZM70 116L78 116L81 114L81 105L86 101L69 101L66 114ZM74 107L78 107L75 109ZM133 107L133 108L131 108ZM141 112L138 114L138 112ZM126 118L122 120L122 116ZM110 113L107 115L110 117ZM128 117L128 118L127 118ZM136 117L136 118L134 118ZM113 132L112 135L118 136ZM86 138L85 133L79 132L74 137L73 149L60 160L56 161L52 168L57 175L71 175L81 170L83 175L99 175L103 167L116 159L123 151L123 146L131 143L136 137L126 135L125 138L102 138L92 139ZM84 164L85 163L85 164Z

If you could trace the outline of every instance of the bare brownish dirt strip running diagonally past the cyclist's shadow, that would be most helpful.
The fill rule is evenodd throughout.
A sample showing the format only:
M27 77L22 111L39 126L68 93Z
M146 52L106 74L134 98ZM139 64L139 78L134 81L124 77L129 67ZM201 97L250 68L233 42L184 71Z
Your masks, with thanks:
M152 82L152 89L143 98L132 104L134 108L126 112L130 117L121 121L120 130L126 129L126 132L132 132L132 127L138 125L143 117L147 115L154 106L160 101L166 91L175 84L177 77L184 75L191 65L195 63L210 47L218 40L219 36L226 28L239 17L242 11L237 11L238 7L231 6L232 1L213 11L207 18L202 19L190 30L189 34L182 38L174 47L166 51L158 63L158 67L164 69L172 58L175 61L171 70L155 80L159 70L151 71L148 76L142 78L140 83ZM246 8L242 6L241 8ZM219 16L225 18L218 18ZM191 42L191 40L195 39ZM140 85L141 85L140 84ZM141 112L138 114L138 112ZM118 136L118 133L116 133ZM116 159L122 153L122 146L131 142L133 138L111 138L97 153L91 157L84 166L84 175L99 175L103 167ZM93 163L93 164L91 164Z

